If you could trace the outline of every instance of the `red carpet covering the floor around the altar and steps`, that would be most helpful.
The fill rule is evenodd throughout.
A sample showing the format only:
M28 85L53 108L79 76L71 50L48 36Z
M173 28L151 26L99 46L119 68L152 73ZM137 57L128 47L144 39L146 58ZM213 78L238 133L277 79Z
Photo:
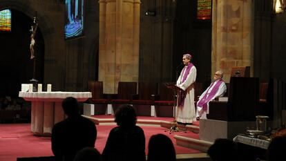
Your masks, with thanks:
M138 118L140 119L140 118ZM108 137L109 131L115 125L97 125L97 140L95 147L102 152ZM163 127L141 126L146 137L146 153L149 138L151 135L163 133L168 135L175 145L176 153L200 153L200 151L187 149L175 144L173 135L165 132ZM198 134L187 132L182 135L189 135L191 138L198 138ZM50 149L50 138L36 137L30 132L30 124L0 124L0 161L16 161L18 157L37 157L53 155Z

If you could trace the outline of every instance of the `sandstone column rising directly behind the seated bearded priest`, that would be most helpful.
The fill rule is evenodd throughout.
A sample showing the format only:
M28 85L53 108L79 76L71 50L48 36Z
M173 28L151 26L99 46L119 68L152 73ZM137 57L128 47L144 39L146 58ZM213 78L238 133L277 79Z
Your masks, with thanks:
M211 72L222 70L229 82L231 68L251 66L254 70L254 2L213 1Z

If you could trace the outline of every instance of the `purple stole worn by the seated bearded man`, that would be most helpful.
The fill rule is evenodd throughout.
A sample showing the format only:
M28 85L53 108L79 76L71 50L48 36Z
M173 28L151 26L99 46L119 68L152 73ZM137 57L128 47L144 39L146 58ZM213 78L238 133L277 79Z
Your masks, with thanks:
M209 93L209 89L211 88L211 86L209 86L209 89L207 90L207 92L204 93L204 96L198 102L198 106L202 107L202 110L207 111L207 102L209 102L211 98L213 98L213 96L216 95L216 92L218 91L218 88L220 87L220 84L222 84L222 82L223 82L222 79L218 80L215 86L213 86L214 82L211 83L211 86L213 86L213 88L211 89L211 92ZM209 93L208 96L207 96L207 93Z

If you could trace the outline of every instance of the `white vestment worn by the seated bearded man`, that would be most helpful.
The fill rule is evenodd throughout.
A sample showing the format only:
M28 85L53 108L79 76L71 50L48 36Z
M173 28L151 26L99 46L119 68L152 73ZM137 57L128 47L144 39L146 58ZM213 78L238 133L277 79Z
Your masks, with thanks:
M220 79L218 79L218 80L220 80ZM206 91L204 91L204 93L202 93L202 95L200 95L198 102L200 102L200 100L202 99L202 97L204 97L204 95L207 95L206 97L208 97L208 95L209 95L209 93L211 93L211 90L213 89L213 87L216 86L216 83L218 83L218 80L216 80L216 82L213 83L213 86L209 86L206 89ZM222 97L223 95L225 95L226 92L227 92L227 85L225 85L225 82L222 82L222 84L220 84L220 86L218 87L218 91L216 91L216 94L211 98L211 100L214 100L216 97ZM209 100L209 101L211 101L211 100ZM196 117L200 117L200 119L207 119L207 113L209 113L209 102L207 102L207 111L204 111L202 109L202 107L198 106L198 102L197 102Z

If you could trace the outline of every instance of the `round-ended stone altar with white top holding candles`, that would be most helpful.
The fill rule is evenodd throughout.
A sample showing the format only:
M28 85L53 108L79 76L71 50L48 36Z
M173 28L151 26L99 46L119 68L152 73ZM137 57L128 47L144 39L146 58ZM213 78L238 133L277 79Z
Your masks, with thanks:
M66 97L75 97L84 102L92 97L90 92L19 92L19 97L31 102L31 131L34 135L50 136L54 124L64 120L61 102Z

